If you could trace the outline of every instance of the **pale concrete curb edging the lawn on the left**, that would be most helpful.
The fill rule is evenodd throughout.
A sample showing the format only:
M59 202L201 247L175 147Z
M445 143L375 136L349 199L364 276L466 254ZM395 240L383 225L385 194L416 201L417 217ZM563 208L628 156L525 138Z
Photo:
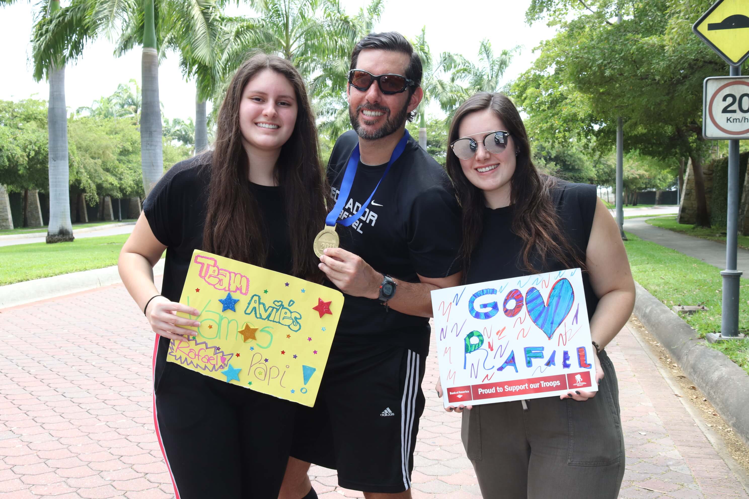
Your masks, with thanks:
M154 275L163 274L163 272L164 259L161 259L154 266ZM8 284L7 286L0 286L0 309L93 290L97 287L109 286L120 282L122 280L115 265L104 267L103 269L85 270L83 272L55 275L51 278Z

